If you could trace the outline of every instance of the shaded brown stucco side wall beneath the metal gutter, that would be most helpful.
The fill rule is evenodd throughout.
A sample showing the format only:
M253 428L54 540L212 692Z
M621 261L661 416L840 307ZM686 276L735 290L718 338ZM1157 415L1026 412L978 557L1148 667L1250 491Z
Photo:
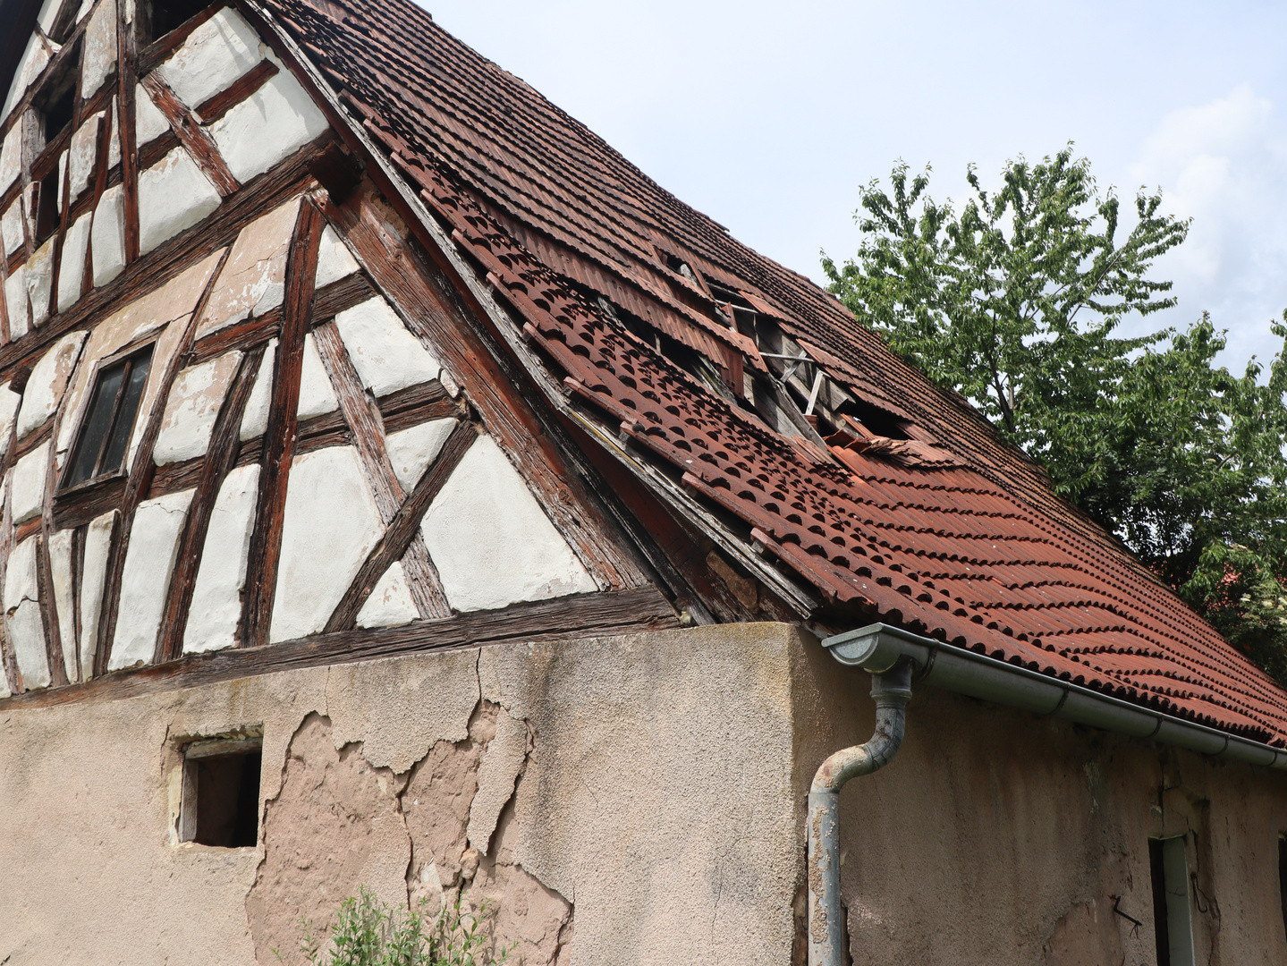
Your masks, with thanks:
M820 745L865 741L875 709L866 674L806 655L813 670L799 675L797 700L810 734L802 758L815 763ZM1196 962L1287 962L1287 777L912 692L897 758L842 796L856 966L1152 966L1148 839L1180 835L1197 873ZM849 713L824 716L822 706Z

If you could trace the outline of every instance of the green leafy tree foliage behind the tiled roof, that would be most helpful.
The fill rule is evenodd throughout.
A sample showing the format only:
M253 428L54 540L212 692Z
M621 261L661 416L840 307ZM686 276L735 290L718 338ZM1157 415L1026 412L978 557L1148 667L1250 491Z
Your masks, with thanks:
M973 166L967 181L959 211L928 196L928 169L897 165L889 193L871 181L857 257L824 256L831 291L1287 682L1283 355L1229 373L1205 314L1183 333L1118 334L1175 305L1149 271L1189 223L1161 214L1161 194L1138 194L1125 230L1071 145L1006 163L995 193Z

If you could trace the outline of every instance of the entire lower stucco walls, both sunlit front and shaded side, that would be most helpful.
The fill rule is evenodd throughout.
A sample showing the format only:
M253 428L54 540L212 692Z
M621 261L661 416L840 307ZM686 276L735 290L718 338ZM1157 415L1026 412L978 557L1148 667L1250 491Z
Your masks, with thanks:
M803 791L867 686L741 625L4 710L0 962L290 962L366 882L489 897L529 966L785 966ZM260 727L265 845L176 844L178 749ZM921 688L843 808L856 963L1152 963L1148 837L1185 832L1197 961L1287 958L1266 772Z

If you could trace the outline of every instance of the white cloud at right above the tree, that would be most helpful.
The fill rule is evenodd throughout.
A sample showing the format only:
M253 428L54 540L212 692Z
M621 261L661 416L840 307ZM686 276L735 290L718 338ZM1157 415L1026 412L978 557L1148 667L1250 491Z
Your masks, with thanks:
M1287 127L1274 103L1242 84L1172 111L1129 171L1136 184L1161 185L1167 211L1193 219L1188 241L1157 265L1180 300L1166 322L1210 310L1229 329L1230 367L1252 354L1268 363L1279 347L1269 320L1287 307Z

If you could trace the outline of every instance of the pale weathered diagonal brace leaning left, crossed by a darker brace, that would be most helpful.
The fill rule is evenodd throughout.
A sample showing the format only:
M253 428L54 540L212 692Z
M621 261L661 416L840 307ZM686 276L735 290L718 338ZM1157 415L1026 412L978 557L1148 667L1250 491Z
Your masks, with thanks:
M358 449L358 457L367 471L380 516L387 526L403 502L403 489L385 449L385 423L380 414L380 406L363 388L362 379L349 358L349 351L344 347L336 324L324 322L315 327L313 338L317 340L322 364L331 377L336 397L340 400L340 412L344 413L344 419L349 424L349 431L353 433ZM430 560L425 538L418 531L407 547L403 571L421 617L447 617L450 615L452 606L447 602L447 593L443 590L438 567Z

